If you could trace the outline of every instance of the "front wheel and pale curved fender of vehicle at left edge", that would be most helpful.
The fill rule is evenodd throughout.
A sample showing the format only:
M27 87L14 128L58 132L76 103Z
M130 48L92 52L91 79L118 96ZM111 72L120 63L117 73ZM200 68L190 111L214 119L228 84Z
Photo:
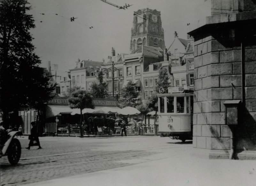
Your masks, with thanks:
M15 165L19 162L19 158L21 155L21 145L17 138L14 136L18 133L18 131L10 131L8 132L7 139L4 143L2 148L2 155L1 156L8 156L8 161Z

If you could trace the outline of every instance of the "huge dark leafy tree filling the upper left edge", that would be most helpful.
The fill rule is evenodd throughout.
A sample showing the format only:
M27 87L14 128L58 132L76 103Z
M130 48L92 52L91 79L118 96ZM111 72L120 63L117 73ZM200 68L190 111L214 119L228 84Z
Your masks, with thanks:
M30 9L26 0L0 0L0 109L4 120L19 107L42 109L54 90L34 53L29 32L35 28L34 19L26 14Z

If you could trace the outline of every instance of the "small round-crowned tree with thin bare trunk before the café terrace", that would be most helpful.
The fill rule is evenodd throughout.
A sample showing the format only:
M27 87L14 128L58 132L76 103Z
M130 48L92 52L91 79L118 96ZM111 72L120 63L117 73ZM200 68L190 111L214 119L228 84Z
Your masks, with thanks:
M70 98L68 98L69 107L70 108L79 108L80 109L80 133L81 137L83 137L82 130L82 110L84 108L94 108L92 102L91 94L86 90L77 90L71 93Z

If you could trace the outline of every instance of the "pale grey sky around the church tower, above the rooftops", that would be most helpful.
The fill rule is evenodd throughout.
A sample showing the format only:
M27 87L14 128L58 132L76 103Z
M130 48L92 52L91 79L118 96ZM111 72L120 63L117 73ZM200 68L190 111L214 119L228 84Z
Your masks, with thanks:
M129 53L133 13L143 8L161 12L168 48L174 32L186 39L187 23L195 21L205 11L197 8L198 3L205 0L108 1L119 6L133 5L128 10L117 10L100 0L28 0L32 6L28 13L33 15L36 25L31 34L41 66L47 67L51 61L51 64L58 64L59 70L69 70L78 59L107 60L112 47L116 54ZM78 18L71 22L70 17Z

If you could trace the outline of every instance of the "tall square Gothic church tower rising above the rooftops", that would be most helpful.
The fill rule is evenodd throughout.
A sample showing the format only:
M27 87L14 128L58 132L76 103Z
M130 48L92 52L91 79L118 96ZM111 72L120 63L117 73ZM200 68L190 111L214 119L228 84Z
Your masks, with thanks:
M134 12L130 52L141 45L165 48L160 11L146 8Z

